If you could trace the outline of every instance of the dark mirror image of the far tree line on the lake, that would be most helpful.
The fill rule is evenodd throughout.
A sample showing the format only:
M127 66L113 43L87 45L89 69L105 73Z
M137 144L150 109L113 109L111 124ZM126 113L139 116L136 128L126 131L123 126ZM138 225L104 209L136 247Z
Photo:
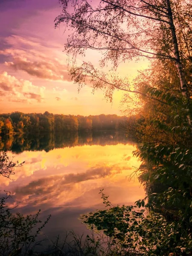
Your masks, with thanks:
M0 137L0 149L20 153L25 150L46 152L54 148L74 147L80 145L116 145L126 144L128 138L125 134L115 131L97 131L90 133L41 133L41 134L16 134ZM129 143L131 139L129 138ZM133 142L134 143L134 142ZM135 143L134 143L135 144Z

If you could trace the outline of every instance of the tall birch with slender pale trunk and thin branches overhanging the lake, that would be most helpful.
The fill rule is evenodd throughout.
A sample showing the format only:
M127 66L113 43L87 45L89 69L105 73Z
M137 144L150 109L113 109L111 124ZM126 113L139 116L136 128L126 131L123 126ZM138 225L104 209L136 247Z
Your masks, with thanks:
M187 0L100 0L96 5L88 0L60 0L60 3L63 12L55 19L55 27L64 23L66 31L67 28L71 31L65 49L73 57L70 74L80 87L91 82L93 90L104 89L110 100L115 89L142 95L131 88L127 79L107 74L90 62L77 67L75 58L84 55L87 49L102 53L100 67L108 61L116 68L126 60L157 58L174 63L180 92L189 105L187 84L191 84L191 75L186 76L186 69L192 64L192 3Z

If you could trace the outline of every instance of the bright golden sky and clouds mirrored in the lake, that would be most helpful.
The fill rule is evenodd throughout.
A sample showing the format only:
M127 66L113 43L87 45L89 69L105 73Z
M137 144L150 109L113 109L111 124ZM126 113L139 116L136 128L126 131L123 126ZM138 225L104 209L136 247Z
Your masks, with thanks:
M140 165L132 157L134 149L133 145L117 144L23 151L16 159L26 163L6 187L13 195L9 207L18 205L25 213L41 209L55 214L56 209L71 207L84 212L83 208L102 205L99 190L103 188L113 204L134 204L144 197L138 180L126 179L134 171L132 166Z

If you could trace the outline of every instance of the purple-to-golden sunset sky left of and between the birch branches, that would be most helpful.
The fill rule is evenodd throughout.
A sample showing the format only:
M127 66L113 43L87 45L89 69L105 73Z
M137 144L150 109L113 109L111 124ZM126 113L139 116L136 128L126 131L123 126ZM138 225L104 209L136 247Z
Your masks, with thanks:
M111 104L101 90L93 94L85 86L78 93L69 77L67 35L64 26L54 28L62 11L58 0L0 0L0 10L0 113L122 114L122 92L114 93ZM89 58L99 62L96 52ZM119 70L133 79L145 67L145 61L131 61Z

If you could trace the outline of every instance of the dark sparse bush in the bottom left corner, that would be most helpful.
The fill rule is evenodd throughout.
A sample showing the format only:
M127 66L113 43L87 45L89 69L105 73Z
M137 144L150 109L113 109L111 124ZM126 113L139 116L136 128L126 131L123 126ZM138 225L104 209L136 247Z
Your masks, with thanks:
M49 217L43 224L39 220L40 210L35 216L26 215L17 212L13 214L12 209L6 207L5 201L9 198L0 198L0 255L25 255L27 252L32 251L35 239L41 232L42 228L49 221ZM39 225L41 224L41 225ZM38 225L38 228L37 228ZM34 229L36 229L34 231ZM23 254L24 253L24 254Z

